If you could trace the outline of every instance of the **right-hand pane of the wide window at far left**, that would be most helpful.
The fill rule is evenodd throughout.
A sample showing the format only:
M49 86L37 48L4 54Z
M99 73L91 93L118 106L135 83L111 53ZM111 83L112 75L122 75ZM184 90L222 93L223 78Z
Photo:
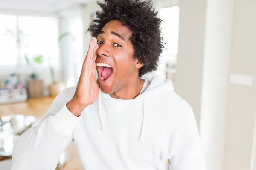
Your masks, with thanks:
M58 62L58 23L50 17L18 17L20 30L21 64L26 64L25 55L31 59L41 54L43 65L59 66Z

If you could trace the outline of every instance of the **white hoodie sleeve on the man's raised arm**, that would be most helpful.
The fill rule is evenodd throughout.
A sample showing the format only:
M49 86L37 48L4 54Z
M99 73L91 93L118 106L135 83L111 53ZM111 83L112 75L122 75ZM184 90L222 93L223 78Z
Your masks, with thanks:
M59 94L38 126L15 142L12 170L54 170L64 149L72 142L72 132L81 119L66 107L67 90Z

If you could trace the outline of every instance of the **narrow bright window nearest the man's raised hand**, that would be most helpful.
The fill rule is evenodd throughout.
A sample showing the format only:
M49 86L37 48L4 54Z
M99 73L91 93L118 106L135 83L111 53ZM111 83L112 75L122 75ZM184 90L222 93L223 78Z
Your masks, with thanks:
M61 63L67 87L77 84L84 61L84 28L82 15L65 15L60 18L61 35L66 34L60 42Z

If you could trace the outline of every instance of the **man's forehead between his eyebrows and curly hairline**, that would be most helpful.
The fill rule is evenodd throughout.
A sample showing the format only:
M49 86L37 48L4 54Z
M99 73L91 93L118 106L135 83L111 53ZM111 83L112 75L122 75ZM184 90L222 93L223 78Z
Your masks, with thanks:
M127 40L129 40L132 33L132 31L128 27L123 26L122 22L118 20L109 21L105 24L101 31L104 31L106 34L111 34L111 31L114 31L117 34L122 35L122 37Z

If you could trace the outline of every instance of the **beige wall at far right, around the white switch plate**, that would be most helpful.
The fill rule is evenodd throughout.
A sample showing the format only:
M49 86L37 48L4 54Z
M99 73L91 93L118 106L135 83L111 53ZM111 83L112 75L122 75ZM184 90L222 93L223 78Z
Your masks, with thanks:
M253 77L253 85L228 85L224 167L225 170L256 170L256 167L250 169L256 111L255 0L234 0L229 75L232 74Z

